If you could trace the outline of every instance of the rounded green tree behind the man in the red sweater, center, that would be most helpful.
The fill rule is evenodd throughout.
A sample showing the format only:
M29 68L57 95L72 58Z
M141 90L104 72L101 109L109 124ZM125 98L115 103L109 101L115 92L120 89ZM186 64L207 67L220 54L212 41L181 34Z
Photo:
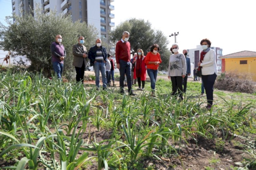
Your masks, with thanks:
M110 39L113 42L119 41L124 31L130 33L129 42L133 53L137 52L140 48L144 51L144 55L146 56L147 52L150 51L150 46L158 44L160 47L159 53L163 61L159 65L159 69L166 70L168 68L171 53L167 48L169 43L168 39L162 31L152 29L149 21L131 18L116 26L116 28L110 32Z

